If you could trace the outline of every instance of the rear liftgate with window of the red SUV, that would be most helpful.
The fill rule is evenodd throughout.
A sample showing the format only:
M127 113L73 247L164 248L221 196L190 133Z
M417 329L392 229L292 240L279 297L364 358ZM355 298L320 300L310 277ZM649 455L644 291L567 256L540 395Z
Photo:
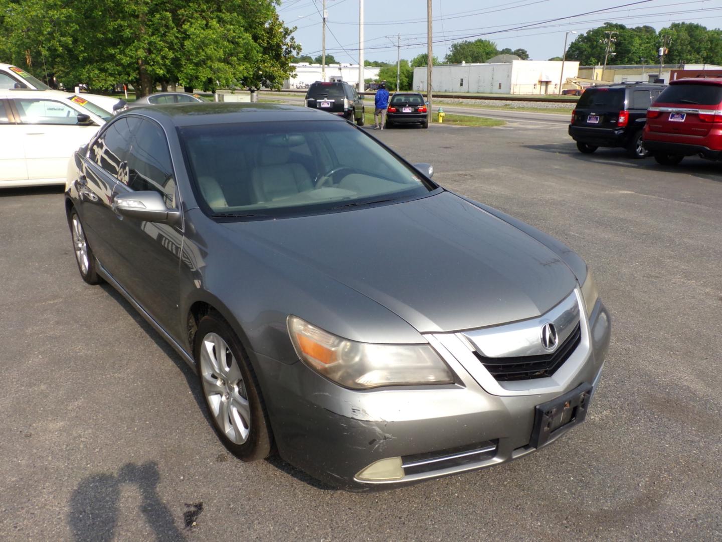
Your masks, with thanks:
M722 86L705 82L669 85L650 108L652 132L704 137L721 110Z

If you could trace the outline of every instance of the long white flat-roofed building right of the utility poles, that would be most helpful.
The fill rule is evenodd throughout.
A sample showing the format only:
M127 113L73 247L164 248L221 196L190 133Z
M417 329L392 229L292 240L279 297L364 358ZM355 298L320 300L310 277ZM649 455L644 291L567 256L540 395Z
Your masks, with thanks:
M579 63L564 63L562 88L577 77ZM514 60L504 64L439 64L433 66L437 93L559 94L561 61ZM426 90L426 66L414 68L414 90Z

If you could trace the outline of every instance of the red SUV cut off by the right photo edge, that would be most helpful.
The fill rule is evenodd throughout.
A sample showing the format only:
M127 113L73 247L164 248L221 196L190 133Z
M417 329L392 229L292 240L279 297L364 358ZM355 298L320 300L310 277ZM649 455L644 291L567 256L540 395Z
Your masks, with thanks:
M658 163L722 159L722 77L669 82L647 110L643 145Z

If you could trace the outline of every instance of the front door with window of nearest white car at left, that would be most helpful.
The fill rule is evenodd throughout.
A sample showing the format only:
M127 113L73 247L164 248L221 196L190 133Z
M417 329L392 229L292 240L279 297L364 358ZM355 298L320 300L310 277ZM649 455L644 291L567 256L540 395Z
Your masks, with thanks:
M68 160L97 132L97 124L78 124L79 111L60 100L12 98L19 119L27 178L65 182Z

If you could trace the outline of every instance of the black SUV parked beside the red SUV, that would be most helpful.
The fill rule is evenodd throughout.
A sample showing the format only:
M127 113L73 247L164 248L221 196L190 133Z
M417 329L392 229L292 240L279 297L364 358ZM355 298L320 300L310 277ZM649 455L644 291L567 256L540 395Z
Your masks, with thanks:
M588 87L572 111L569 135L580 152L623 147L632 158L645 158L649 153L642 145L642 130L647 108L665 88L639 82Z

